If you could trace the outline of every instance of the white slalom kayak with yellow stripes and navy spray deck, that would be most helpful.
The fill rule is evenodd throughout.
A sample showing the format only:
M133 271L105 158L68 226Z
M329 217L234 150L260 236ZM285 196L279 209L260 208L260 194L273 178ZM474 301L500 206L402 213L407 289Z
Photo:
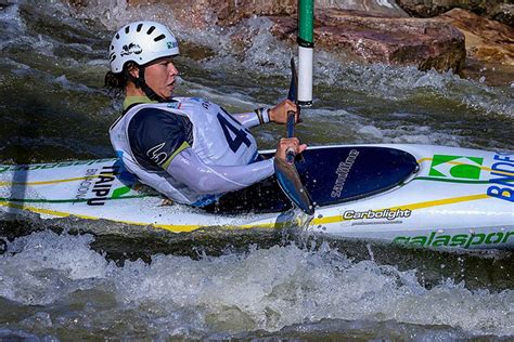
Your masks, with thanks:
M314 231L419 247L514 248L513 153L381 144L303 155L296 168L316 205ZM165 200L117 159L0 166L4 213L192 232L280 228L294 220L288 209L274 177L198 209Z

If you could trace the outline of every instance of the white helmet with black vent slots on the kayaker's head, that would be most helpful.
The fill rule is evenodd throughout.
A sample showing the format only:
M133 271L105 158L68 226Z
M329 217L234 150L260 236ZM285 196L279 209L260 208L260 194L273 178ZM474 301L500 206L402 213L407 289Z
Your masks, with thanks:
M155 22L134 22L121 27L114 35L108 51L108 64L111 71L119 74L129 61L143 65L178 54L179 43L166 26Z

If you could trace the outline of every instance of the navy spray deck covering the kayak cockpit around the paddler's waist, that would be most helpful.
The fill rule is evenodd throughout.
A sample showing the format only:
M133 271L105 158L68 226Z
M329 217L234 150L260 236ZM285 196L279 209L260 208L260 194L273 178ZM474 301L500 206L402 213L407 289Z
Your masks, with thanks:
M389 147L311 148L303 155L296 168L312 201L320 207L386 192L401 185L419 170L414 156ZM280 212L291 207L277 179L269 177L245 189L226 194L205 209L217 213L261 213Z

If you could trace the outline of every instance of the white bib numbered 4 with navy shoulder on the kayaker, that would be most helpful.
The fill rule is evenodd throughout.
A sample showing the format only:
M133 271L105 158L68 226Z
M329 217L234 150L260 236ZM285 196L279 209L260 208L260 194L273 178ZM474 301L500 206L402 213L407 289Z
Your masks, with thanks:
M191 147L209 166L248 165L257 157L256 141L244 126L220 106L195 97L129 107L111 127L110 137L126 169L143 184L190 205L218 194L198 195L172 181L166 169L182 149Z

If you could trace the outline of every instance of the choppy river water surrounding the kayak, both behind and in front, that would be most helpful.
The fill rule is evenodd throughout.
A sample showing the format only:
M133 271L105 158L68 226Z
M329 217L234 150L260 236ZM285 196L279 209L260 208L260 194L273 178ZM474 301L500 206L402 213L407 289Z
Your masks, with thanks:
M102 87L106 48L136 18L165 22L182 42L178 95L233 111L285 97L295 49L270 36L267 19L191 29L158 6L124 3L0 5L1 163L112 156L106 132L120 101ZM246 49L230 43L240 31ZM314 106L297 128L309 145L514 149L509 75L492 82L323 52L314 75ZM272 148L283 128L255 132ZM0 340L514 337L511 251L413 250L298 229L171 235L91 225L2 218Z

